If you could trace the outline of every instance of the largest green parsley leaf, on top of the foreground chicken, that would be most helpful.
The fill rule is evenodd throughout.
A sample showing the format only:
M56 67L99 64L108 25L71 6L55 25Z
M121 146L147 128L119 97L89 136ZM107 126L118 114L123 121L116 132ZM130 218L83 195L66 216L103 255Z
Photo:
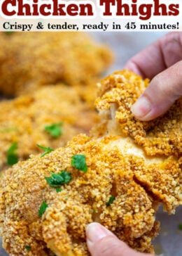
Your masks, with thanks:
M45 179L50 186L56 187L68 183L72 177L70 172L63 170L59 173L52 173L50 177L45 177Z

